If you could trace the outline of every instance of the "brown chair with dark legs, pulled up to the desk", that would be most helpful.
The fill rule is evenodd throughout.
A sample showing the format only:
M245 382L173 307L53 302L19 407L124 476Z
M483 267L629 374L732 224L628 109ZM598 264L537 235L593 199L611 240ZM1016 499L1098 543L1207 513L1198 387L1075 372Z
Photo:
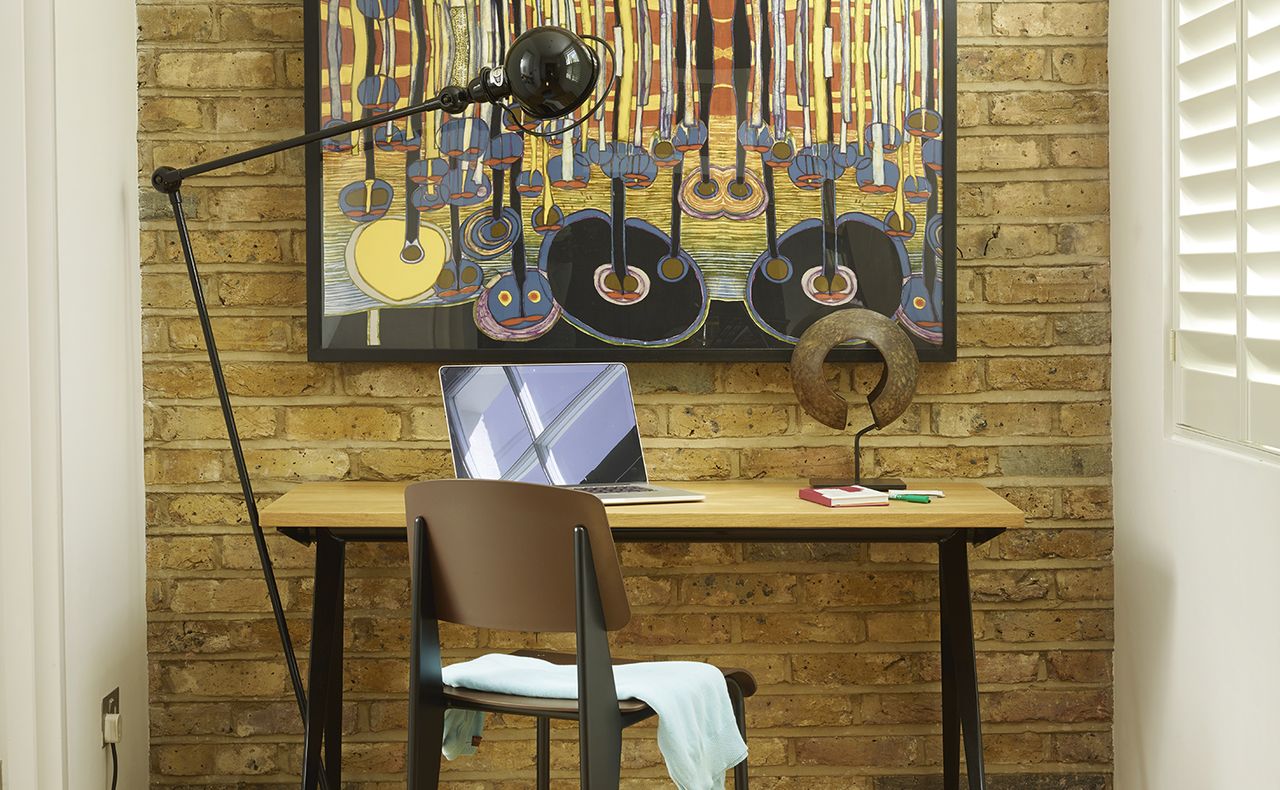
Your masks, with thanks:
M436 787L444 711L461 708L536 720L539 790L550 786L550 720L577 720L584 790L616 790L622 730L654 716L618 700L607 631L631 618L622 568L599 499L581 492L499 480L431 480L404 493L413 613L408 787ZM524 654L577 665L580 699L544 699L447 686L438 621L483 629L577 635L577 652ZM618 662L621 663L621 662ZM722 670L739 730L745 670ZM746 761L733 768L746 790Z

